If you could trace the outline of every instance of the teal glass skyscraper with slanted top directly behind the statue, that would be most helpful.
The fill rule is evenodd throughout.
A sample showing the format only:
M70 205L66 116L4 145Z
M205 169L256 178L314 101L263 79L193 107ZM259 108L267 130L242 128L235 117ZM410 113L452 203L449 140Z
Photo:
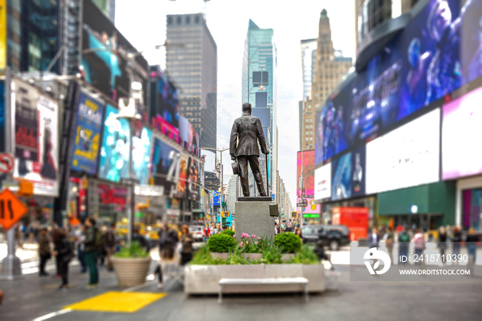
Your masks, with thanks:
M273 187L276 185L277 170L276 68L273 29L262 29L250 19L242 61L242 101L251 103L253 116L261 119L264 137L270 151L267 165L272 194L275 194ZM260 154L260 169L266 184L266 160L262 154ZM251 196L259 194L252 174L249 178L249 189Z

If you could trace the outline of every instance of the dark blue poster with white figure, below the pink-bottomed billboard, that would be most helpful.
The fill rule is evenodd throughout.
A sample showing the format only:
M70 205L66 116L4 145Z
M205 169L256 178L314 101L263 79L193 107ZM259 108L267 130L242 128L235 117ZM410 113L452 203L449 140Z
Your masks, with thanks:
M168 196L174 195L176 187L174 183L167 180L167 173L169 168L174 165L173 156L174 153L178 153L178 150L167 145L156 136L154 136L152 144L151 177L154 177L155 185L164 186L165 194Z

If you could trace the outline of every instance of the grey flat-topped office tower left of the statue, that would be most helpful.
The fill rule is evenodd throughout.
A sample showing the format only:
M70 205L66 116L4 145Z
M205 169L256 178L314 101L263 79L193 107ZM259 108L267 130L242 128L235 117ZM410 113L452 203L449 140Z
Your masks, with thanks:
M200 135L200 147L216 148L218 49L203 14L168 14L166 70L181 88L180 115Z

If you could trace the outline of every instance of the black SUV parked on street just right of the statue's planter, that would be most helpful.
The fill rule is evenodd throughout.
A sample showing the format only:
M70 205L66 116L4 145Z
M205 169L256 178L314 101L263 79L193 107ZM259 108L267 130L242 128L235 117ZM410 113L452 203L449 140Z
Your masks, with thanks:
M337 251L350 244L350 231L346 225L306 225L302 228L304 242L315 243L320 238L323 245Z

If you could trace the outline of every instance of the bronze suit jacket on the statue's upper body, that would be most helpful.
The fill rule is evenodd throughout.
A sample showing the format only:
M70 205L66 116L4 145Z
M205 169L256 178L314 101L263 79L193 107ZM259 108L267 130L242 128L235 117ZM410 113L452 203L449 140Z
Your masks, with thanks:
M243 114L233 123L231 139L229 140L229 154L236 156L260 156L258 141L260 141L261 152L269 154L260 118L250 114Z

